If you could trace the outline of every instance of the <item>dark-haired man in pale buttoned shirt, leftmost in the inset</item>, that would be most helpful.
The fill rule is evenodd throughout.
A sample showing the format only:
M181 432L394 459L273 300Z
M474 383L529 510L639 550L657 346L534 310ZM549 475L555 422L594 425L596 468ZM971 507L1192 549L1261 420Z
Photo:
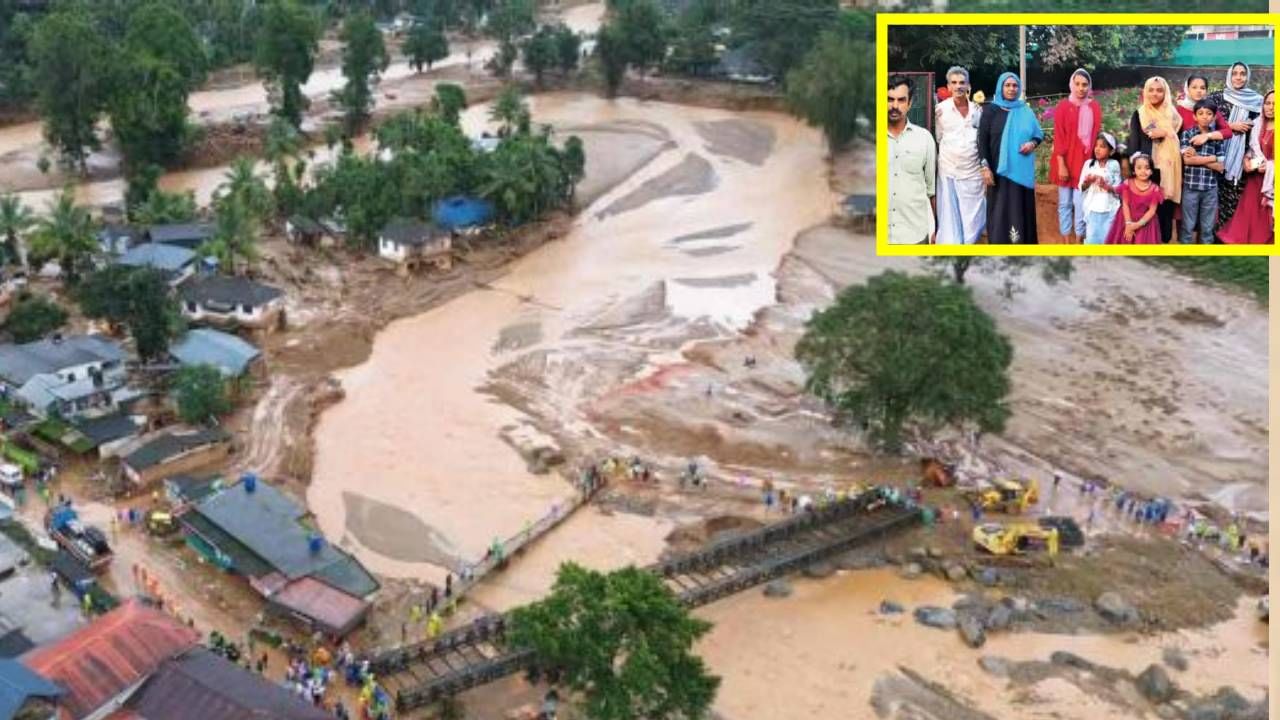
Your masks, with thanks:
M888 241L892 245L933 242L934 179L938 149L933 136L906 119L911 79L888 78Z

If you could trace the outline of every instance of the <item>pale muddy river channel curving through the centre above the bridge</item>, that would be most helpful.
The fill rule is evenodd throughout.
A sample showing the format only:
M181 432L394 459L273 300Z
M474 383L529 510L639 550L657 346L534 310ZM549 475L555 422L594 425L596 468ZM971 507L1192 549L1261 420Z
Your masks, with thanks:
M539 123L609 128L581 133L595 163L589 173L637 167L586 208L563 241L517 261L488 290L393 323L366 364L342 373L347 398L317 425L308 502L326 534L346 538L380 571L440 579L439 565L415 561L422 555L412 543L434 538L434 557L476 559L494 537L568 496L563 479L531 474L499 437L525 418L477 391L490 370L520 357L568 363L582 343L573 331L654 286L672 290L658 307L671 323L736 332L773 301L771 273L791 240L833 209L819 133L783 115L586 95L538 96L531 110ZM472 109L467 122L481 113ZM663 150L652 159L612 152L628 124L631 133L664 138ZM602 213L616 204L621 209ZM732 247L714 260L671 242L724 225L744 229L701 241ZM518 333L532 342L503 351L503 331L517 325L536 328ZM552 393L563 398L561 420L579 421L573 378L548 375L557 380L566 383L563 395ZM367 514L353 514L344 500L353 495L408 511L425 532L374 551L361 542L370 536Z

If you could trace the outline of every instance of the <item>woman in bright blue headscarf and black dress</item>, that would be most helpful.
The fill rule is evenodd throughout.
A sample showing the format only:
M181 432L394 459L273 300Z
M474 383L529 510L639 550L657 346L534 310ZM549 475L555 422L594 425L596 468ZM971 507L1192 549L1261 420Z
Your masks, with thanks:
M1014 73L1000 76L978 124L978 160L987 183L987 242L1037 242L1036 147L1044 131L1021 99Z

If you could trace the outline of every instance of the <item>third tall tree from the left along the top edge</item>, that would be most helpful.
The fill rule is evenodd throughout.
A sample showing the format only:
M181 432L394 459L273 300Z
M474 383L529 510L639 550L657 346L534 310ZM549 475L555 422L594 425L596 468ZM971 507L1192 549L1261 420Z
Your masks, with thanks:
M273 111L302 126L307 97L302 86L315 68L320 26L297 0L270 0L262 9L255 65L273 95Z

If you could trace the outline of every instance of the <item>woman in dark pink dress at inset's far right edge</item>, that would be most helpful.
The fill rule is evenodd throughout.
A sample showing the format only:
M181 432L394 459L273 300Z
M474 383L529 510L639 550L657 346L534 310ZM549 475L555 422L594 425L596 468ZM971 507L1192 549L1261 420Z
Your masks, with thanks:
M1244 158L1248 179L1240 191L1240 204L1217 237L1229 245L1275 242L1275 91L1262 97L1262 115L1249 131L1249 152Z

